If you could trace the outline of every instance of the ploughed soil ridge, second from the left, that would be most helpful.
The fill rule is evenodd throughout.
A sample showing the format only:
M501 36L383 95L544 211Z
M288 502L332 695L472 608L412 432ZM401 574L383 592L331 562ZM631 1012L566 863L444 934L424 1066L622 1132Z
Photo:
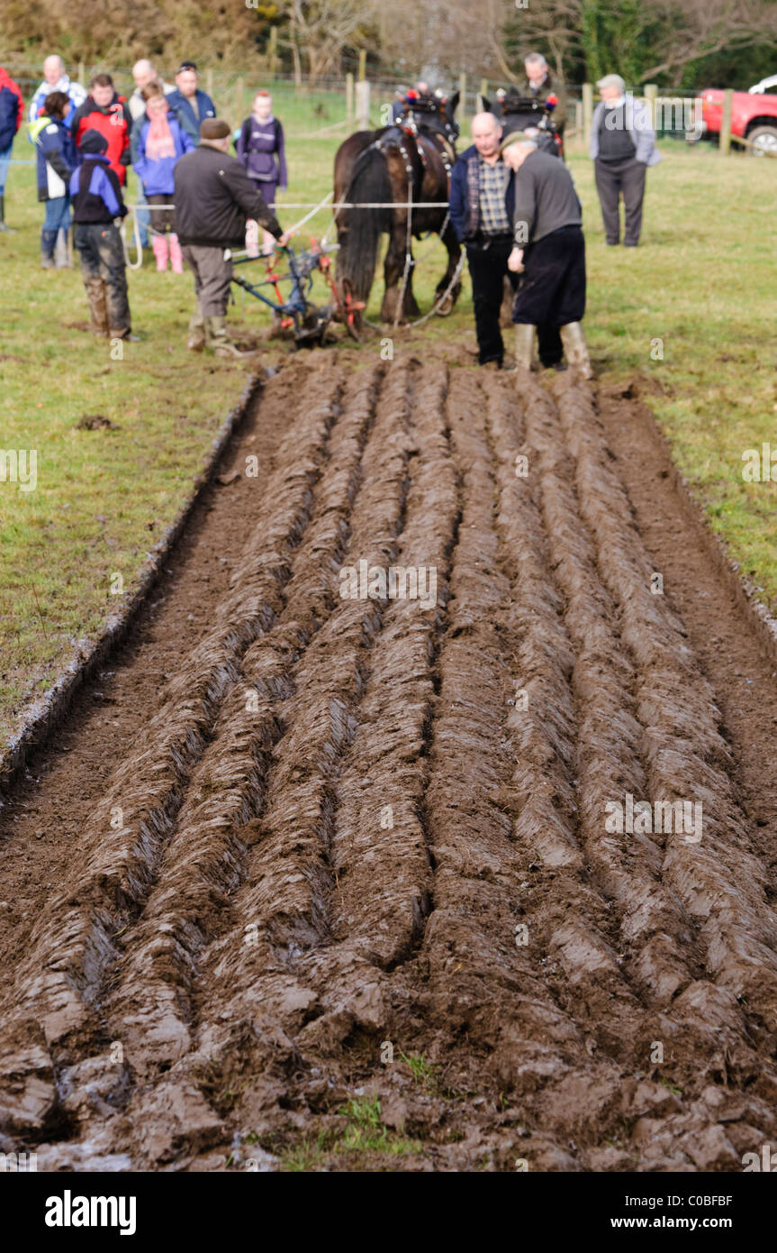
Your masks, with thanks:
M299 658L332 609L332 570L347 545L378 375L364 371L343 393L343 415L314 489L313 520L292 555L284 606L243 658L240 682L193 777L159 881L139 926L121 937L126 957L111 996L109 1035L124 1042L135 1075L190 1048L196 957L229 928L229 901L244 878L248 852L243 828L262 809L283 702L294 692Z

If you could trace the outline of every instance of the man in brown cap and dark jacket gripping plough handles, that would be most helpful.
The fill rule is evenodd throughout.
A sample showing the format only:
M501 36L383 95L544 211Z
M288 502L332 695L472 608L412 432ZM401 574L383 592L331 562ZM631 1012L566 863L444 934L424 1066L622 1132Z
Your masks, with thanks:
M225 249L243 248L245 222L253 218L283 247L287 236L243 165L229 155L229 125L209 118L200 125L199 147L175 167L175 218L184 261L194 273L198 308L189 322L186 347L213 348L219 357L241 353L226 335L231 259Z

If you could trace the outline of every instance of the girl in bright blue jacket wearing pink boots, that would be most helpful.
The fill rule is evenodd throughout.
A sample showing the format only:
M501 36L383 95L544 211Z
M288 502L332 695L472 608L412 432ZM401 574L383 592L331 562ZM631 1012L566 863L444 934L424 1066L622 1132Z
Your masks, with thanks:
M150 234L156 269L165 271L168 268L169 238L170 268L174 274L183 274L184 261L175 231L175 209L173 208L175 190L173 172L184 153L194 150L194 144L176 118L170 114L168 99L158 83L149 83L148 86L144 86L141 95L146 101L146 120L135 123L135 125L140 125L135 173L143 183L150 207Z

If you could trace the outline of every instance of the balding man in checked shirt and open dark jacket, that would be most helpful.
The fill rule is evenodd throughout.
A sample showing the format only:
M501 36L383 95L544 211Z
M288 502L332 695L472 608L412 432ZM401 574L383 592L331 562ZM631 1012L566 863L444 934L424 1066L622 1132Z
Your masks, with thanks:
M504 343L499 312L504 278L513 288L518 278L507 268L513 247L513 178L502 160L502 127L493 113L472 119L472 148L462 153L450 177L450 221L467 249L472 278L478 361L502 368Z

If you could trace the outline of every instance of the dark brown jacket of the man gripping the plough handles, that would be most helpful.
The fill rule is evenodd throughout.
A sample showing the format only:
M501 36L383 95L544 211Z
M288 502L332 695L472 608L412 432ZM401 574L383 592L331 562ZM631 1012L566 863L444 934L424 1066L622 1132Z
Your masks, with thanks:
M175 222L181 244L241 248L253 218L277 239L280 223L235 157L200 143L175 167Z

